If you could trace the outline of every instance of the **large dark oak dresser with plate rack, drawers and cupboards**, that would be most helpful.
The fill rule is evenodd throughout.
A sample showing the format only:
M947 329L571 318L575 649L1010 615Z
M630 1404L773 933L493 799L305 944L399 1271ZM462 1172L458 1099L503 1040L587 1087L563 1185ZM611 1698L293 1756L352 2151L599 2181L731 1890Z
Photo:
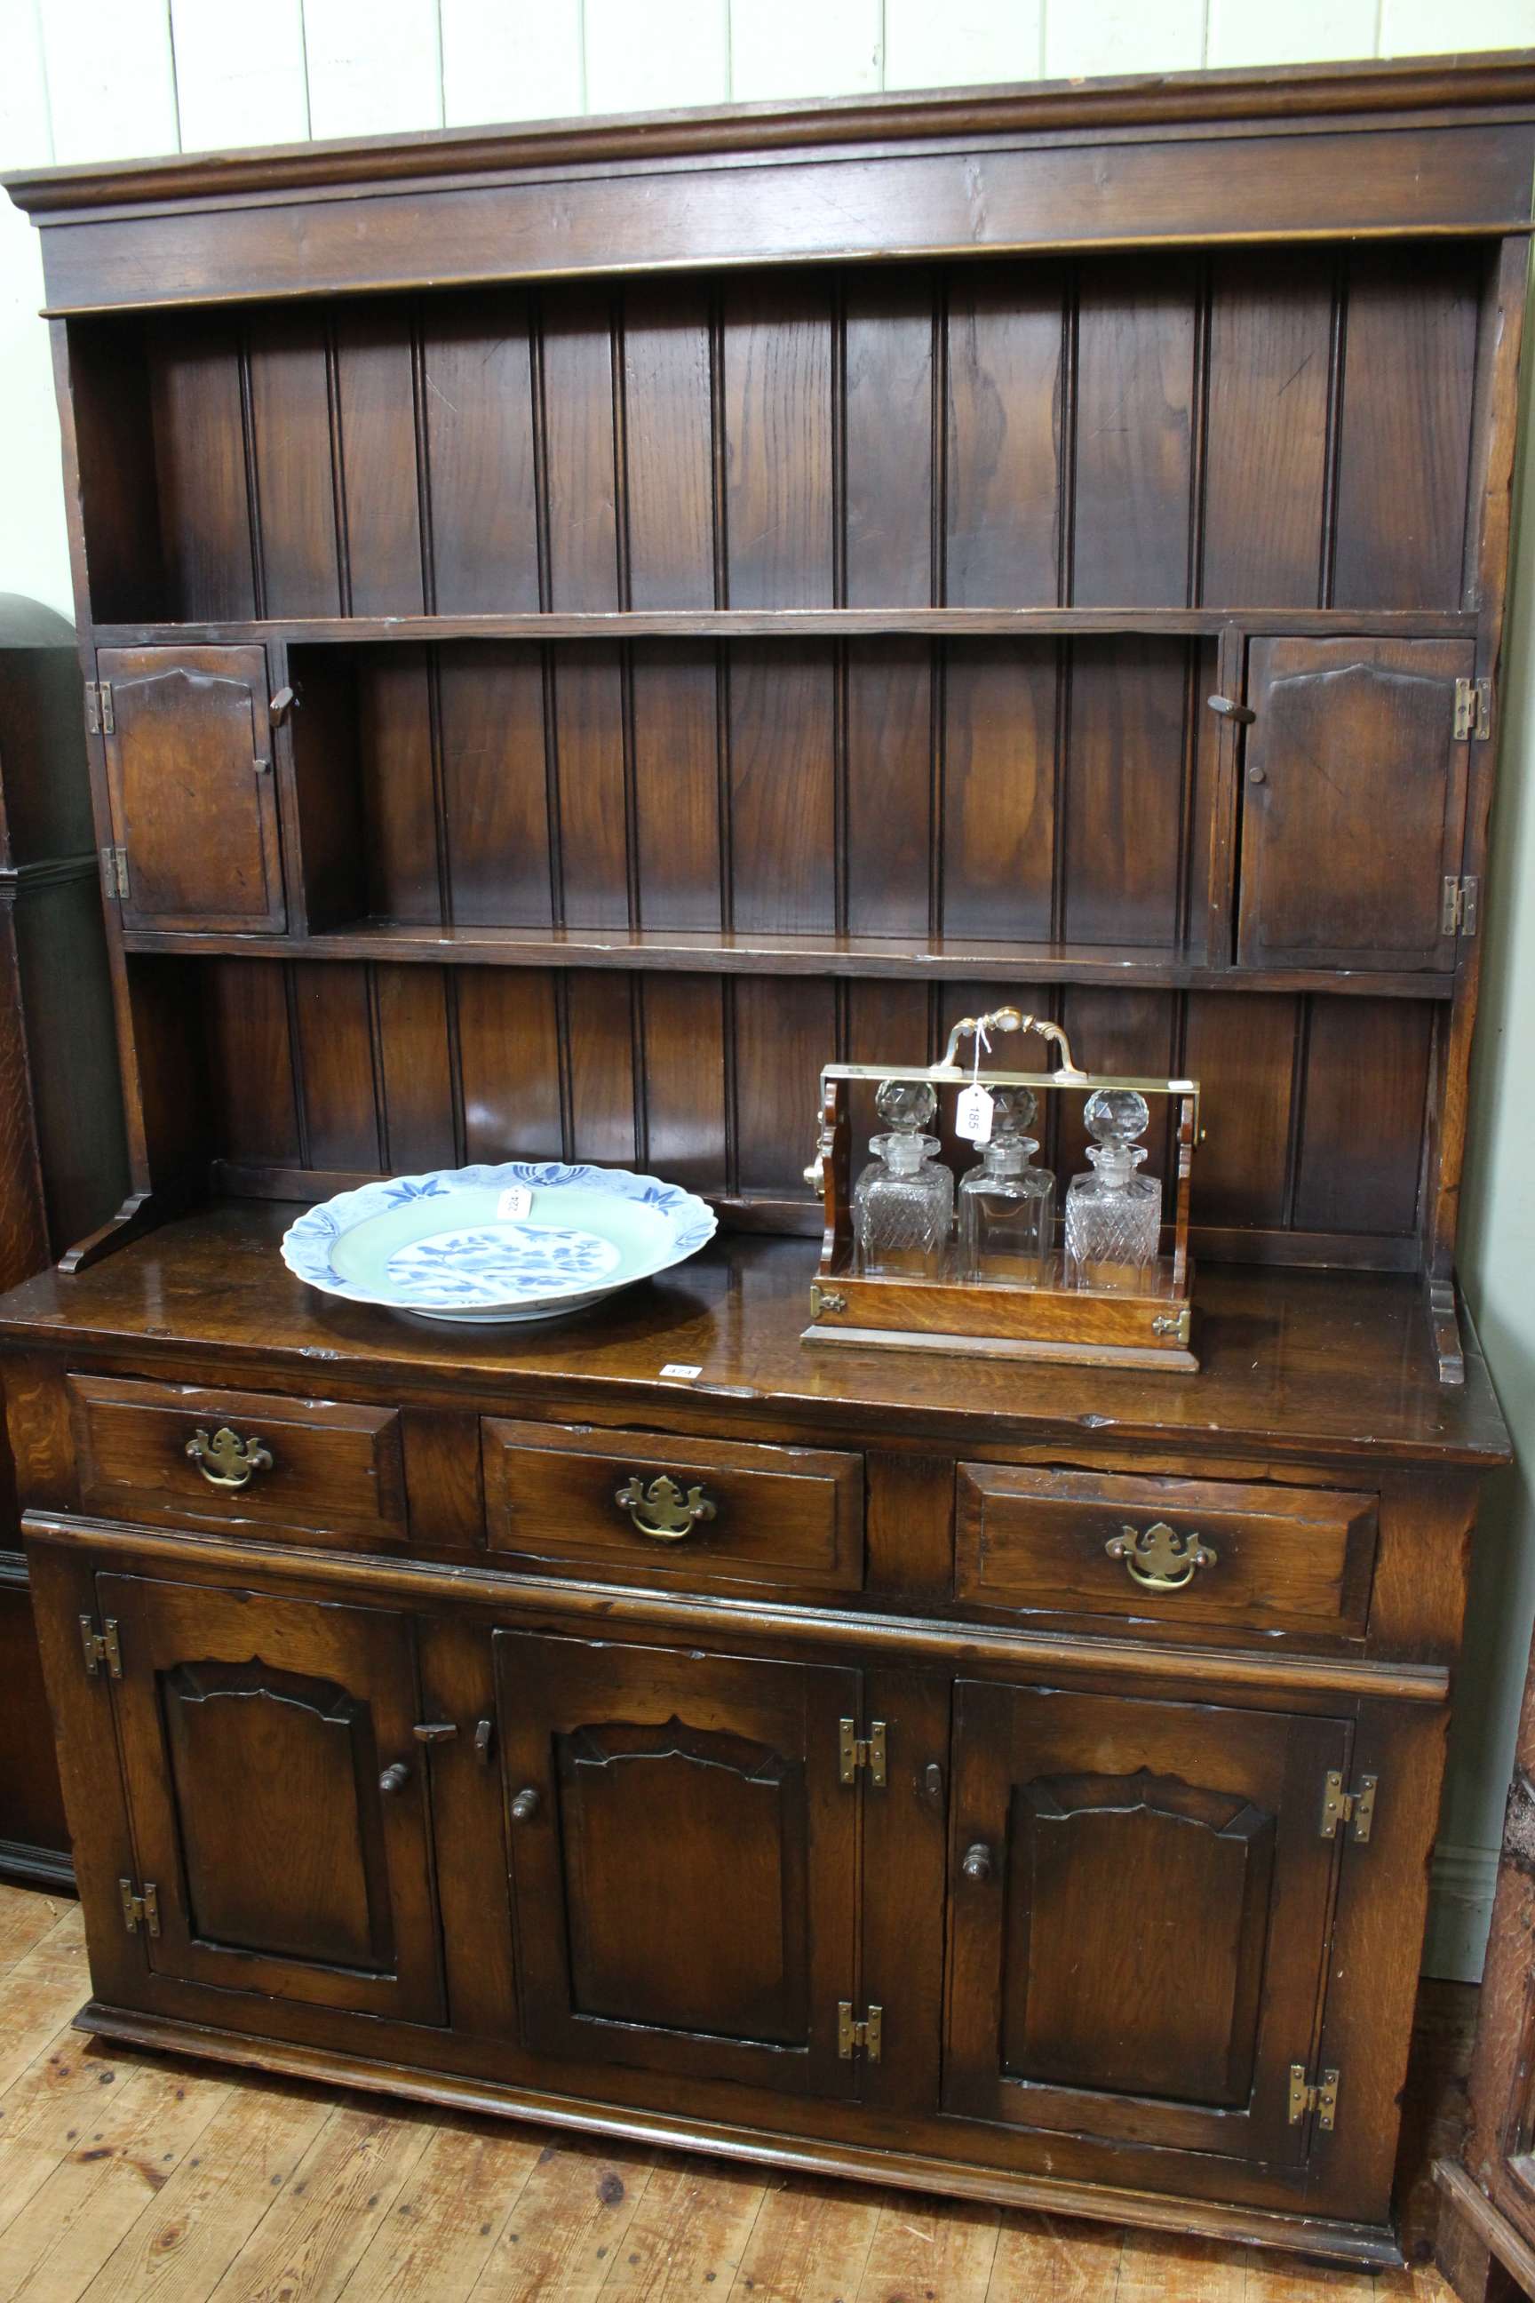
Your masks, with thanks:
M1533 170L1494 58L12 180L133 1156L0 1306L87 2029L1395 2259ZM817 1345L822 1064L999 1000L1201 1082L1199 1373ZM513 1156L720 1237L522 1331L278 1260Z

